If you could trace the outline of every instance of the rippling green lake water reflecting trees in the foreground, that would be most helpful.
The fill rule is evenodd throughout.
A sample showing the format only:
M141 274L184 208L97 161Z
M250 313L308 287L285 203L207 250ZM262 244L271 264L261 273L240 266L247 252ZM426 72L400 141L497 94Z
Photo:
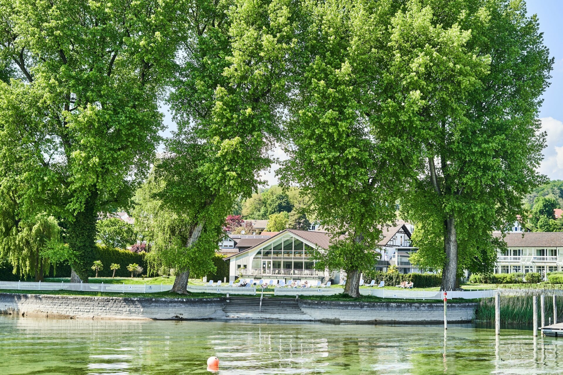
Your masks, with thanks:
M473 326L110 321L0 315L0 374L557 374L563 338Z

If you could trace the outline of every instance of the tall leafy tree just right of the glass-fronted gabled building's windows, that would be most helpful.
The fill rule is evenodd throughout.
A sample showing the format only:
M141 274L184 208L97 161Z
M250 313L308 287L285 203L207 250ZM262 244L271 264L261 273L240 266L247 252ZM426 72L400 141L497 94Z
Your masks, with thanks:
M311 211L334 234L329 250L317 251L320 268L344 269L345 293L359 296L362 270L377 263L381 226L395 219L403 162L396 143L379 132L385 102L381 53L393 2L303 2L301 54L294 62L289 108L290 159L284 186L297 184ZM369 125L372 125L370 128ZM390 152L391 151L391 152Z

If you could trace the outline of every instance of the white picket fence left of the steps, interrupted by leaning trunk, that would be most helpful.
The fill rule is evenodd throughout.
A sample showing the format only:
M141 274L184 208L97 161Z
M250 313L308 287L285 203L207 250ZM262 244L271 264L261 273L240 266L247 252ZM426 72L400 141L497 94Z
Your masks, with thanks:
M0 281L0 289L7 290L37 290L55 291L70 290L79 292L115 292L115 293L154 293L167 292L172 285L147 285L147 284L104 284L104 283L50 283L50 282L22 282ZM256 287L217 287L217 286L192 286L187 290L194 293L220 293L256 295Z

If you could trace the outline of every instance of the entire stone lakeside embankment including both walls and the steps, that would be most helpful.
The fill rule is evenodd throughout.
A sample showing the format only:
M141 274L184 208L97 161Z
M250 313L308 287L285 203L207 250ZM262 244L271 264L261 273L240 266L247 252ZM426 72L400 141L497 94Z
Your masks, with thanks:
M292 305L292 306L289 306ZM450 323L471 322L476 303L448 304ZM242 297L129 298L0 293L0 314L86 319L269 319L342 323L440 323L443 304Z

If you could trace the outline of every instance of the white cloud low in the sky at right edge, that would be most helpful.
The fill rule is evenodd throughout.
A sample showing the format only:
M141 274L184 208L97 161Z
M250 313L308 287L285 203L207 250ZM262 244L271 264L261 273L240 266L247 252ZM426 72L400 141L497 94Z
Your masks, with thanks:
M542 118L542 132L547 133L543 161L538 171L553 179L563 179L563 122L551 117Z

